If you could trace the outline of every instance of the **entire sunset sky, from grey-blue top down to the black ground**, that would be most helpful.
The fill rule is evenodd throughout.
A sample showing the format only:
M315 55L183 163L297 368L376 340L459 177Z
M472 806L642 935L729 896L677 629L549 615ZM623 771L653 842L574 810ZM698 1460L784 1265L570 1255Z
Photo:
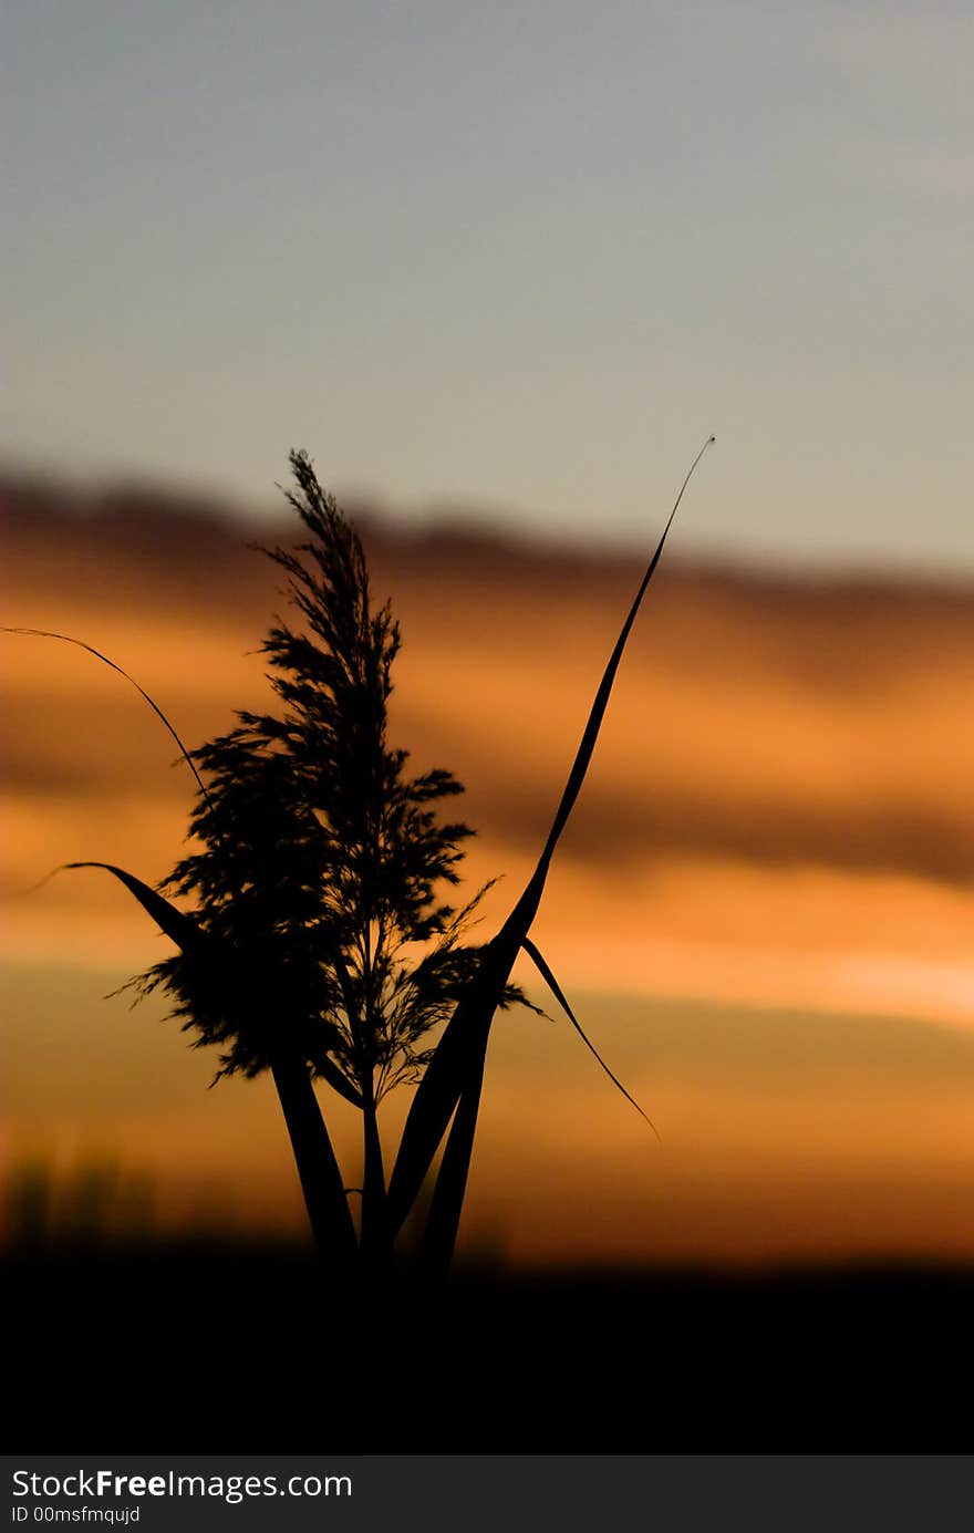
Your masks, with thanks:
M9 0L3 31L0 621L201 744L262 696L244 543L290 537L307 448L403 624L396 740L466 783L471 886L503 875L485 934L716 434L534 927L663 1142L568 1024L500 1019L466 1248L972 1257L971 6ZM95 872L26 892L166 874L172 742L66 645L0 668L11 1164L298 1229L267 1082L207 1091L161 1006L103 1000L164 952L143 912Z

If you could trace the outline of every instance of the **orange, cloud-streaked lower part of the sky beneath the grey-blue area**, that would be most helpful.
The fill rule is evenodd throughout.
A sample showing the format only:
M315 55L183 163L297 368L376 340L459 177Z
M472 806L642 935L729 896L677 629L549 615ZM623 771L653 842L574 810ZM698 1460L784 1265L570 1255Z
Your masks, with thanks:
M262 696L273 570L230 524L123 510L14 510L6 615L84 636L202 740ZM541 845L638 563L483 533L373 527L368 546L405 633L393 736L468 786L471 886L503 875L489 931ZM667 561L532 931L663 1142L568 1024L503 1016L468 1249L974 1254L972 675L957 586ZM103 1000L166 950L138 906L97 872L21 892L72 858L160 878L192 802L172 742L66 645L5 639L3 687L14 1164L48 1156L69 1179L114 1159L164 1225L301 1228L267 1082L207 1091L213 1061L161 1006ZM351 1118L330 1108L354 1180Z

